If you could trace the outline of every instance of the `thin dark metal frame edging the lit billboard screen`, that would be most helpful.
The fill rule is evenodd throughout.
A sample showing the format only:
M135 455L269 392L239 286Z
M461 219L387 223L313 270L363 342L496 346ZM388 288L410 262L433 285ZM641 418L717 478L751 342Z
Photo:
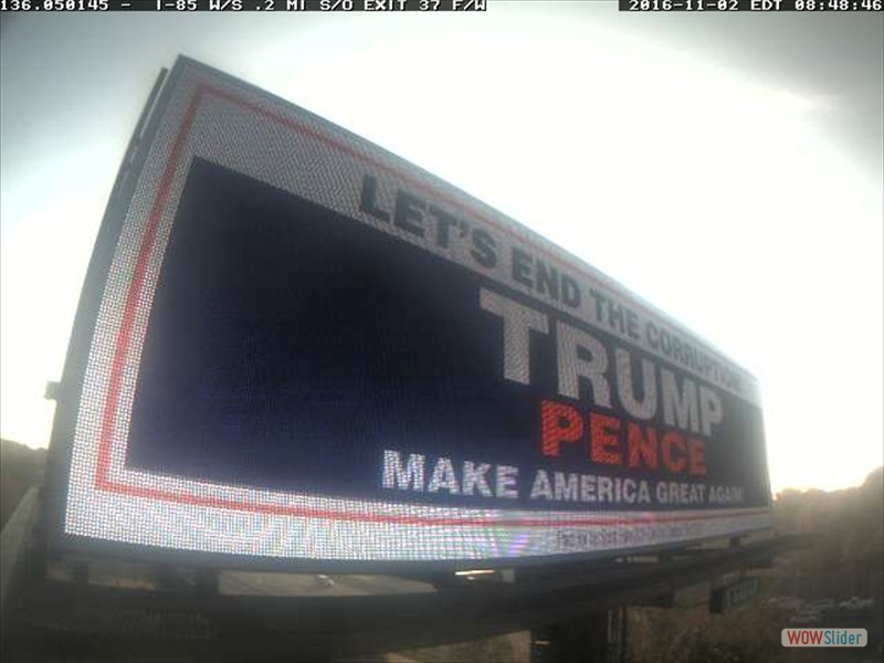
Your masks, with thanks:
M128 208L133 196L135 194L136 183L139 176L145 168L147 160L147 146L151 145L154 137L160 126L164 110L170 102L172 91L176 87L177 81L180 78L186 70L197 70L206 73L212 77L221 81L229 82L250 93L267 99L272 104L293 106L291 103L271 95L255 86L243 83L232 76L219 72L212 67L206 66L201 63L192 61L187 57L180 57L171 72L166 75L165 71L160 74L154 91L151 92L148 104L143 113L143 116L136 127L135 134L131 138L127 152L123 160L123 166L117 176L114 189L108 201L108 206L101 224L98 236L96 239L95 250L86 274L81 302L77 307L77 313L72 330L71 341L69 346L67 357L65 361L62 382L57 392L57 407L55 412L55 420L53 425L53 436L50 446L50 454L48 459L46 472L46 487L44 505L45 529L49 534L48 540L51 548L56 552L83 552L83 554L97 554L107 556L128 556L130 558L140 558L151 561L161 561L166 564L177 564L186 566L208 566L217 568L243 568L243 569L262 569L262 570L290 570L290 571L318 571L318 570L338 570L345 572L436 572L446 571L460 568L474 568L477 565L487 568L515 568L515 567L536 567L536 566L550 566L550 565L569 565L578 561L588 561L593 559L610 558L622 555L640 555L643 552L652 552L656 550L672 549L683 547L684 543L677 544L662 544L655 546L636 547L629 549L617 550L602 550L594 552L575 552L572 555L552 555L552 556L534 556L526 558L486 558L482 560L475 559L459 559L459 560L438 560L438 561L351 561L351 560L319 560L319 559L294 559L294 558L270 558L256 557L249 555L230 555L230 554L210 554L196 550L176 550L170 548L149 547L137 544L124 544L110 540L97 540L76 535L64 534L64 509L67 503L67 491L70 483L70 474L72 471L72 452L73 452L73 438L76 424L77 412L81 408L81 400L84 391L84 380L86 372L86 362L91 349L93 334L96 328L98 318L98 309L104 292L104 286L109 276L110 263L113 261L116 243L119 239L124 224L125 210ZM341 129L307 112L298 108L298 112L306 114L311 119L319 125L327 127L329 130L337 135L345 135L358 140L362 145L368 145L365 139L352 136L346 129ZM371 145L371 149L377 150L378 154L383 155L386 158L396 160L400 164L406 164L401 158L391 155L380 147ZM435 176L425 173L422 169L408 165L409 168L422 176L431 177L435 181L441 181ZM480 201L475 201L478 209L485 209L485 206ZM508 220L518 232L524 230L517 222ZM525 231L529 232L529 231ZM533 233L532 233L533 234ZM572 259L576 264L582 265L576 259ZM609 284L610 286L610 284ZM622 286L617 285L617 288L624 292ZM646 304L643 299L630 294L636 302L644 308L652 312L653 315L659 316L661 319L671 324L676 329L684 329L681 324L673 320L666 314L657 311L655 307ZM691 336L694 336L691 334ZM711 347L706 344L707 347ZM720 355L717 350L711 349ZM767 477L766 477L767 480ZM767 480L769 486L769 480ZM769 494L769 491L768 491ZM769 505L768 505L769 508ZM741 509L748 512L750 509ZM767 509L759 509L767 511ZM745 532L729 532L725 536L739 536L748 532L757 529L756 527L746 529ZM720 538L722 535L709 536L705 538ZM691 544L696 544L704 538L691 539Z

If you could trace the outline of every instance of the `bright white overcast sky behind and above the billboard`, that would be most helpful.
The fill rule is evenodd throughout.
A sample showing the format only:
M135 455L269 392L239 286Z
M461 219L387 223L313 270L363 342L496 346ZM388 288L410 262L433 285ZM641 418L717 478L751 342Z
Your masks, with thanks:
M49 442L119 160L183 53L439 175L685 323L761 383L774 490L882 464L882 185L771 87L613 6L461 15L25 17L3 27L0 432ZM646 33L645 33L646 34Z

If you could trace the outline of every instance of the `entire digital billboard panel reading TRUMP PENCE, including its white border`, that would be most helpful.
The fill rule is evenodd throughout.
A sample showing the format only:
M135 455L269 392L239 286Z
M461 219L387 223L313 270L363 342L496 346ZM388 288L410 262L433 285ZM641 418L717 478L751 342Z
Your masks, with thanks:
M186 59L139 155L65 368L60 545L512 565L769 526L755 379L560 248Z

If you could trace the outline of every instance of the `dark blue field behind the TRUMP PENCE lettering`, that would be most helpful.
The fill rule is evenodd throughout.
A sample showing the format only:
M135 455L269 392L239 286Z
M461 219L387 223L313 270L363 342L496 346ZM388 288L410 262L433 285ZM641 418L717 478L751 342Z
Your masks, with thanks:
M480 308L480 287L582 327L610 351L624 346L496 281L196 159L150 314L127 465L328 496L545 511L590 505L529 501L537 469L690 480L597 465L583 444L544 457L540 401L567 400L556 393L552 336L533 335L530 386L506 381L503 324ZM743 486L746 499L732 506L765 506L760 411L709 387L726 415L707 444L705 482ZM610 413L628 419L617 406ZM425 454L428 474L439 456L515 465L519 498L383 490L388 449Z

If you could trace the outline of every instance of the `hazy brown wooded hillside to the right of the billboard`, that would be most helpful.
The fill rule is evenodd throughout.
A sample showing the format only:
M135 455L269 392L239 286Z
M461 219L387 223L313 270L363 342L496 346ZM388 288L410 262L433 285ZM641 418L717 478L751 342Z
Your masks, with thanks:
M810 548L778 556L770 569L750 571L761 577L762 589L760 597L743 610L709 614L704 600L685 608L630 608L628 660L642 663L829 660L824 655L810 657L804 655L807 652L799 656L780 645L780 630L789 625L792 613L775 607L769 601L774 596L835 602L851 596L872 598L874 611L856 615L861 621L850 625L869 630L871 644L856 660L880 660L875 656L882 638L884 596L884 469L872 472L855 488L830 493L783 491L774 503L774 525L780 534L818 534L819 539Z

